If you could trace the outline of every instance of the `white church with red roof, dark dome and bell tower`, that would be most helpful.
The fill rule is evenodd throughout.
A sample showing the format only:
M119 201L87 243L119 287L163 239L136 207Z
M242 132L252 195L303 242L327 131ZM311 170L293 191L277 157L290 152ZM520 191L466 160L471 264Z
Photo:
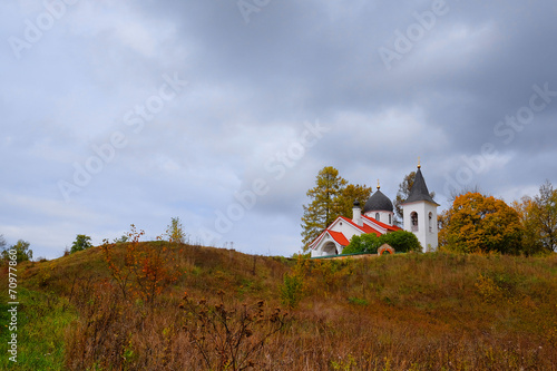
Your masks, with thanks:
M438 246L437 207L438 203L429 195L426 179L418 165L414 183L407 201L401 205L403 209L403 230L412 232L420 242L423 252L436 251ZM352 208L352 219L339 216L311 244L312 257L342 254L350 238L354 235L374 233L382 234L401 231L394 224L394 213L391 199L387 197L378 185L378 189L365 202L363 209L358 202Z

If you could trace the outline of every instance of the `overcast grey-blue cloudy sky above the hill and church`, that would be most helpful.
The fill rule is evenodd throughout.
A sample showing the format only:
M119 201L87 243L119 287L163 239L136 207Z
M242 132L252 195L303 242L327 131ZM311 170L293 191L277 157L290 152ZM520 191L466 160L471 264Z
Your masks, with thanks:
M0 234L57 257L178 216L301 246L324 166L507 202L557 183L551 0L0 2Z

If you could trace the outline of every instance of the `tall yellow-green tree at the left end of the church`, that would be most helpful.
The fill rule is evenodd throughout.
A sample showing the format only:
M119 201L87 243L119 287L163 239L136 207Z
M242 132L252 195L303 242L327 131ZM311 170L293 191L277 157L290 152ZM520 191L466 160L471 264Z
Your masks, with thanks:
M326 166L319 172L315 187L306 193L311 203L303 206L302 243L304 251L341 214L342 203L339 202L339 196L342 195L346 183L339 176L339 170L332 166Z

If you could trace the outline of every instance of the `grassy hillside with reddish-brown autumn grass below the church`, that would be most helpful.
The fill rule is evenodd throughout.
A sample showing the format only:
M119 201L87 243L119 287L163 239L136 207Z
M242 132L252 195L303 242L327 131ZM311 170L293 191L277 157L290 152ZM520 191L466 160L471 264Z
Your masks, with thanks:
M111 247L120 267L130 246ZM126 290L99 247L20 265L13 369L557 369L555 255L294 261L134 248L156 264L135 261Z

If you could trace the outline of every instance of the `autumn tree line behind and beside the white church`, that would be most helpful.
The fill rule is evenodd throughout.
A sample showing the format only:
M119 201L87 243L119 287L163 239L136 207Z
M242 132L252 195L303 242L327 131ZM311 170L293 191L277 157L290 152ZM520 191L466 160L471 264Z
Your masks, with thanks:
M414 176L416 173L411 172L403 177L392 201L397 225L402 219L401 204L410 194ZM336 168L322 168L315 178L315 186L306 193L309 203L303 205L302 250L307 251L336 217L352 218L353 202L363 205L371 193L371 187L367 185L350 184ZM434 193L430 195L434 197ZM510 205L482 194L478 187L455 192L450 202L450 208L438 216L441 251L525 255L557 251L557 189L549 180L539 187L538 195L524 196ZM351 242L348 251L371 251L378 243L374 238L364 237L363 241L373 242L362 245L362 237L356 240Z

